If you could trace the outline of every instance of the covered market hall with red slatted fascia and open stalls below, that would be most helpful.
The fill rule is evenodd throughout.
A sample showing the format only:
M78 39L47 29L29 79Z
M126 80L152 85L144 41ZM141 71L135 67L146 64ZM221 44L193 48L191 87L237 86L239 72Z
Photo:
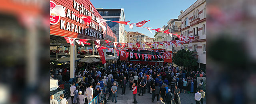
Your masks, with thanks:
M69 80L75 78L75 70L77 67L80 67L80 63L82 63L78 62L80 60L79 56L97 55L98 52L95 50L95 40L100 40L99 45L106 46L104 40L116 42L117 38L106 22L102 23L102 25L106 26L105 32L102 26L99 25L99 22L95 18L102 19L102 17L90 0L50 0L50 8L54 8L57 5L60 5L64 9L65 17L50 15L50 60L53 60L51 61L52 64L56 62L56 60L60 62L60 59L66 58L66 61L54 65L63 66L63 64L65 64L65 70L62 70L62 72L65 71L65 73L68 73L67 78L63 77L63 80L66 80L64 83L59 81L58 91L51 91L51 94L56 95L57 100L60 100L59 94L64 94L65 98L70 94L69 87L71 82L69 82ZM87 22L84 22L84 20L75 14L91 16L91 22L87 24ZM88 40L86 41L88 44L82 46L76 43L76 41L70 44L66 42L64 37L76 38L76 40L86 39ZM106 49L103 51L106 55ZM96 60L98 60L98 58ZM51 69L55 70L56 68ZM66 72L66 69L69 70L69 72ZM58 75L52 70L50 72L54 77Z

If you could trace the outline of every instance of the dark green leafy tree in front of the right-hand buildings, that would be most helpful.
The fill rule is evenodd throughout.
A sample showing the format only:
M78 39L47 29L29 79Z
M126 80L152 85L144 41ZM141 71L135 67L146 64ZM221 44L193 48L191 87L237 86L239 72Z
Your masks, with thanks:
M192 51L186 51L184 49L179 50L173 57L173 63L178 66L184 66L185 68L191 68L197 66L197 59L192 56Z

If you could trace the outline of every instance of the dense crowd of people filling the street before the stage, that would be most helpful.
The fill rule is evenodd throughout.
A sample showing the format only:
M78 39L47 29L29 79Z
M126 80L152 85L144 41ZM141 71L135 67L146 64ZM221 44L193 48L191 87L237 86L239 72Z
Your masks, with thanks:
M64 72L68 70L64 69ZM64 74L61 73L59 73L60 76ZM55 77L58 80L61 79L59 75ZM201 79L198 83L196 80L197 77L206 77L202 70L188 72L188 70L179 70L178 67L167 64L158 66L116 61L107 64L106 68L102 64L88 64L86 68L77 67L75 76L70 87L72 104L82 104L78 99L80 91L81 95L87 97L83 103L86 104L101 94L105 87L108 88L108 94L112 96L112 102L117 102L118 87L122 89L122 95L126 94L126 86L129 87L133 92L135 104L138 103L137 93L138 96L144 96L146 92L152 94L152 102L156 98L158 104L163 104L162 102L180 104L180 93L195 93L196 104L199 104L198 93L200 93L199 101L203 104L205 95L204 81Z

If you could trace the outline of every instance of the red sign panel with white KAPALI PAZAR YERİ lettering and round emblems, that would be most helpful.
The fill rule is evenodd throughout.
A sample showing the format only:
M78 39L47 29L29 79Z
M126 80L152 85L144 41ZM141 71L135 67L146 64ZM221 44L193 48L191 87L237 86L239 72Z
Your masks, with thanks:
M71 2L71 1L66 1L66 2ZM55 6L56 4L53 1L50 1L50 7L54 8ZM97 22L97 20L95 19L99 17L94 14L95 12L92 5L88 4L88 6L85 6L84 4L79 4L78 2L73 0L72 2L73 9L66 8L64 6L65 5L62 5L62 8L65 9L66 18L60 19L60 16L51 15L50 24L55 25L55 24L58 24L58 22L60 21L59 29L61 30L72 32L72 34L85 35L85 36L90 36L98 39L106 38L106 32L102 34L103 29L101 26L98 25L99 22ZM86 7L87 8L89 7L90 10L87 10ZM74 9L78 12L72 11ZM83 14L85 16L92 16L92 22L86 25L84 24L84 21L81 18L78 18L73 13Z

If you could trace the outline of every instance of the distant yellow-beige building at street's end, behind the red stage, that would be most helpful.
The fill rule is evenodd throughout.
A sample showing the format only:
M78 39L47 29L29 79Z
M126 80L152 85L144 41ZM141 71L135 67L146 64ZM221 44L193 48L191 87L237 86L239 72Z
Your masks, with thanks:
M146 42L146 35L139 32L127 32L127 37L127 43L134 43L134 45L137 42Z

